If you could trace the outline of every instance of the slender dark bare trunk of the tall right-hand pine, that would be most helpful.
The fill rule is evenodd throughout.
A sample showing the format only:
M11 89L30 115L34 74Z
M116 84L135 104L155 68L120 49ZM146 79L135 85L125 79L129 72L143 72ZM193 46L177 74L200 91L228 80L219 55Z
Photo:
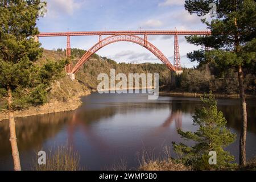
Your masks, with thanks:
M240 158L239 163L241 166L246 166L246 132L247 132L247 110L245 101L245 89L243 88L243 72L241 65L238 67L238 80L240 89L240 104L242 110L242 129L240 135Z

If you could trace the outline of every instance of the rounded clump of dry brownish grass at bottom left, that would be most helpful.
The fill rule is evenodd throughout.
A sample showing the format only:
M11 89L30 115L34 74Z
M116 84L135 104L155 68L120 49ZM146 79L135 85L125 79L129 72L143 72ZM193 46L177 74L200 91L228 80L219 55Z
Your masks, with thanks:
M49 151L46 165L39 165L37 160L32 167L36 171L79 171L79 154L67 145L57 147L55 152Z

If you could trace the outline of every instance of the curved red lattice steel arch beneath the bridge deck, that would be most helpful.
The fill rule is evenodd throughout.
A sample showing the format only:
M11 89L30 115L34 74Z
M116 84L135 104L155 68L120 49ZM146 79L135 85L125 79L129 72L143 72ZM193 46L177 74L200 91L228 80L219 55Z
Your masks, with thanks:
M158 48L156 48L153 44L147 41L147 35L144 35L144 39L136 35L112 35L102 40L100 36L99 42L95 44L92 48L90 48L81 57L81 59L77 62L75 67L73 67L69 71L69 73L76 73L79 70L79 68L81 68L86 61L88 61L89 57L92 56L93 53L96 53L102 47L108 46L109 44L112 44L115 42L122 42L122 41L132 42L132 43L143 46L144 48L148 49L148 51L154 53L154 55L158 57L158 59L162 61L167 66L167 68L169 68L171 71L176 71L176 68L170 63L167 57L164 56L163 53Z

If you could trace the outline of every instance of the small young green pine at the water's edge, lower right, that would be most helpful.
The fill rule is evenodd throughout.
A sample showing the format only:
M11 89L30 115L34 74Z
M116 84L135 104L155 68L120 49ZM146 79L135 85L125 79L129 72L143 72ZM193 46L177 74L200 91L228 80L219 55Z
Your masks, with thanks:
M201 101L204 106L196 109L193 115L193 125L198 127L197 131L192 133L178 130L181 138L193 140L195 145L189 147L183 143L172 142L174 151L179 156L179 160L194 169L210 170L233 166L234 164L230 162L234 160L234 156L223 148L234 142L236 134L226 129L226 119L222 112L217 110L217 101L212 93L205 94ZM216 152L217 164L209 164L210 151Z

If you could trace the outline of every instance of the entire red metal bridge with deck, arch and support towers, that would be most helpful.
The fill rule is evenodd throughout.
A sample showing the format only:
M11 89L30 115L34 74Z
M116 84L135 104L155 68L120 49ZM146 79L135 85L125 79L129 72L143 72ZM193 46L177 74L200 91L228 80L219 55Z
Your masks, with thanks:
M149 51L154 53L156 57L158 57L171 71L181 70L181 62L180 62L180 52L179 52L179 43L177 35L210 35L210 31L177 31L177 30L165 30L165 31L81 31L81 32L45 32L40 33L38 37L50 37L50 36L67 36L67 50L66 57L71 57L71 46L70 46L70 36L86 36L86 35L98 35L99 42L95 44L92 48L90 48L84 56L81 57L79 62L72 69L72 65L68 64L66 66L67 73L75 73L81 67L82 64L85 63L89 59L89 57L97 52L104 46L108 44L119 42L119 41L127 41L139 44ZM110 35L106 39L101 39L102 35ZM143 35L144 39L136 36ZM174 65L168 61L168 59L163 55L162 52L159 51L154 45L147 41L147 35L175 35L174 40Z

